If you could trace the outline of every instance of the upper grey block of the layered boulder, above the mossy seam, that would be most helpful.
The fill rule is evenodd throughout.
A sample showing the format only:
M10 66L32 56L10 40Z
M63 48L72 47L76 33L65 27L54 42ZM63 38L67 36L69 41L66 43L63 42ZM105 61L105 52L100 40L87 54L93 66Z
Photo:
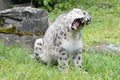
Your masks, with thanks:
M16 32L32 32L33 34L37 32L41 34L48 27L47 12L42 9L14 7L0 11L0 17L5 22L3 27L12 24L16 26Z

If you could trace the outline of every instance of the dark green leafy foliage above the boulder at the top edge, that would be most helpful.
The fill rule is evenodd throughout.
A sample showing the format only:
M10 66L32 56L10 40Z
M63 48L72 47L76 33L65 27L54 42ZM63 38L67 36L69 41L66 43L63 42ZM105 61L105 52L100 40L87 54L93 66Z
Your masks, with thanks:
M54 10L65 10L71 8L73 0L36 0L40 7L52 11Z

